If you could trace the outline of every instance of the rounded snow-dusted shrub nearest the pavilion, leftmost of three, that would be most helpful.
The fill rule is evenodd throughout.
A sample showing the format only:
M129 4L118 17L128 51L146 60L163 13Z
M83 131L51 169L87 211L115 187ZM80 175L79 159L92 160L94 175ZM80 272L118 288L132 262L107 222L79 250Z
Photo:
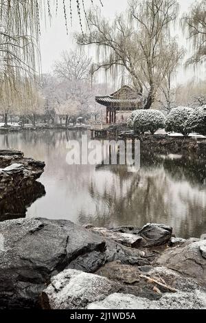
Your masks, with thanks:
M137 133L145 133L150 131L152 135L158 129L165 126L165 115L158 110L138 110L134 120L134 130Z

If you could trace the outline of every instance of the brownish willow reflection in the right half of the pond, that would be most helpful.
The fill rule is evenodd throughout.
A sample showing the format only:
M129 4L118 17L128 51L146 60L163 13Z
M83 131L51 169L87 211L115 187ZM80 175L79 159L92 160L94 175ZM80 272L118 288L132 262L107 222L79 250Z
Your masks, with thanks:
M104 189L91 182L89 192L98 212L87 222L96 225L168 223L179 236L206 232L205 161L182 156L155 156L141 152L141 169L128 173L126 166L98 167L111 172L113 185ZM102 208L100 208L102 205ZM84 218L85 222L85 218Z

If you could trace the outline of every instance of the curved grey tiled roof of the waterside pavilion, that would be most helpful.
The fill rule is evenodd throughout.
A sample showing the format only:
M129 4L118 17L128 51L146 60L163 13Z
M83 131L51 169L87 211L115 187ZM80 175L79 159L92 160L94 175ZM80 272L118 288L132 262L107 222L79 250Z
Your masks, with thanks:
M110 96L96 96L95 100L106 107L113 107L118 110L134 110L141 105L142 96L137 91L124 85L124 87Z

